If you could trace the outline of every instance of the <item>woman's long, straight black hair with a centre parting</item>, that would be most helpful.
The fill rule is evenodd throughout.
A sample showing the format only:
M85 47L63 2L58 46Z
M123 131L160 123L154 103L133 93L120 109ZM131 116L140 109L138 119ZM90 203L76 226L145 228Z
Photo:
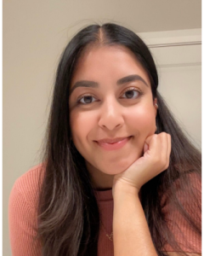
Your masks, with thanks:
M201 152L184 136L157 91L156 65L148 47L134 32L106 23L83 28L60 57L45 137L37 209L42 255L97 255L99 207L85 161L71 141L69 115L71 78L82 53L92 45L122 45L130 49L149 76L152 96L157 98L159 106L156 133L165 131L171 135L172 152L167 170L140 189L141 203L158 255L166 255L162 249L166 243L174 251L182 252L162 207L168 205L172 211L180 212L195 234L201 236L201 192L192 182L201 180Z

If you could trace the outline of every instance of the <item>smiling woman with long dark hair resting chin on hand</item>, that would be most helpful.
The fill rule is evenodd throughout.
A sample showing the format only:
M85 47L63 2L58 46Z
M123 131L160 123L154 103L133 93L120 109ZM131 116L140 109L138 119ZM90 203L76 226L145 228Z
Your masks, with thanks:
M201 153L157 86L150 50L127 28L71 39L43 164L10 195L14 256L201 253Z

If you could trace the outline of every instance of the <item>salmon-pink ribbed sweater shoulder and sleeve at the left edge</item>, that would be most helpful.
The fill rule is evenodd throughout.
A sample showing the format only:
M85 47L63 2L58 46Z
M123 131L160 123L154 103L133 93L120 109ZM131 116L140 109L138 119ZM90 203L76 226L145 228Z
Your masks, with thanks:
M13 255L40 255L37 201L45 168L32 167L14 183L8 201L9 238ZM26 245L26 246L24 246Z

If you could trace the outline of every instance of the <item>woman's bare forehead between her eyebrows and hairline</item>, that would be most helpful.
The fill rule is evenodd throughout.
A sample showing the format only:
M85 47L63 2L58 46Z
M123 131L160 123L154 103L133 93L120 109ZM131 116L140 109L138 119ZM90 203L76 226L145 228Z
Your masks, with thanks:
M71 79L113 80L127 75L138 74L150 83L144 67L130 49L121 45L89 46L79 57Z

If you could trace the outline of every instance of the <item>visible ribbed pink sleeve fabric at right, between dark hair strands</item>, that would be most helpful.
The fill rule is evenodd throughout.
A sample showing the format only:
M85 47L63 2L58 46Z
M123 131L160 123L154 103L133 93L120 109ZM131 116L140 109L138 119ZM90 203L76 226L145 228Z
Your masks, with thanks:
M190 175L190 182L193 183L194 195L185 195L177 183L177 196L184 210L190 214L193 222L201 230L201 179L192 174ZM184 215L178 212L173 204L167 200L162 207L162 212L168 229L172 232L179 247L186 253L201 253L201 234L195 232L192 224L184 218ZM169 244L166 244L165 248L167 252L173 252L173 248Z

